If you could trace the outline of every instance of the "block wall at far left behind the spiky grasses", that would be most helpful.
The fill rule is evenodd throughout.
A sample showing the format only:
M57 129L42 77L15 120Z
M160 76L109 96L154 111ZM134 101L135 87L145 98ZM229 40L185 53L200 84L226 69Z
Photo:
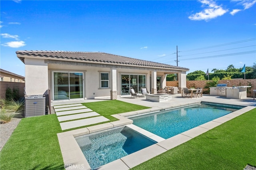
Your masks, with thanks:
M20 97L24 97L25 83L0 81L0 97L1 97L1 99L5 99L7 87L10 87L11 89L18 88Z

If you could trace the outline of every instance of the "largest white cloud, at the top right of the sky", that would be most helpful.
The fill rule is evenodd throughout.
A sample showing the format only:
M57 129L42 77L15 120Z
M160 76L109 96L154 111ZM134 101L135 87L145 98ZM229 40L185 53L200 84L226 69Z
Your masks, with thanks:
M218 16L222 16L228 10L222 8L222 6L218 6L214 1L212 0L200 0L199 2L202 3L202 7L206 6L204 10L201 12L198 12L196 14L192 14L188 18L190 20L205 20L208 21L210 19L216 18Z

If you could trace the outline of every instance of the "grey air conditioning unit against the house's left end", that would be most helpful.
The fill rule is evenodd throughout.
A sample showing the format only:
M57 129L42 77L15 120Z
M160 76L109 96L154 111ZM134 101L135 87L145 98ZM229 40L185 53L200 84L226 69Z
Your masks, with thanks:
M25 117L45 115L45 97L32 95L25 97Z

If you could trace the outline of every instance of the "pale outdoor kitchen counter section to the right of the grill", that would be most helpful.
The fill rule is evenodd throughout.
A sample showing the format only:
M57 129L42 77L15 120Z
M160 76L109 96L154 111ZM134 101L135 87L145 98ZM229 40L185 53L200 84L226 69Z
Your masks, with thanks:
M226 87L227 99L245 99L247 97L247 88L251 86L238 86L236 88Z

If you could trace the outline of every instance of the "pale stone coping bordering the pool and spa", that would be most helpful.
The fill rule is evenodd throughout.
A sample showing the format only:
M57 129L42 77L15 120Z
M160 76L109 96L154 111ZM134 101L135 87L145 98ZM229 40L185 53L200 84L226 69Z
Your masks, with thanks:
M133 111L133 112L127 112L127 113L120 113L116 115L112 115L113 117L116 117L119 119L119 121L114 121L110 123L104 123L100 125L95 125L91 127L86 128L79 128L76 130L70 130L67 132L61 132L58 133L58 140L60 144L60 150L63 157L64 162L64 168L66 169L85 169L90 170L90 165L88 164L84 154L82 153L82 150L78 146L78 143L75 140L75 137L82 136L84 134L90 134L93 132L98 132L101 130L106 130L114 127L121 127L126 125L129 128L132 128L133 130L136 130L143 134L144 136L147 136L148 138L151 138L155 140L157 143L153 144L151 146L148 146L142 150L139 150L137 152L134 152L132 154L129 154L127 156L124 156L118 160L115 160L113 162L109 162L108 164L105 164L103 166L100 166L97 168L98 170L128 170L130 168L133 168L134 166L137 166L138 164L141 164L142 162L145 162L151 158L154 158L155 156L158 156L159 154L162 154L166 152L167 150L170 150L184 142L187 142L188 140L203 134L204 132L207 132L208 130L217 127L221 125L222 123L225 123L235 117L238 117L239 115L242 115L243 113L246 113L247 111L250 111L254 109L253 106L245 106L244 108L234 111L232 113L229 113L227 115L224 115L220 118L214 119L208 123L204 123L202 125L199 125L198 127L192 128L190 130L187 130L185 132L182 132L180 134L177 134L176 136L173 136L168 139L161 138L160 136L157 136L151 132L148 132L140 127L137 127L133 125L133 121L126 118L128 116L132 115L140 115L143 113L153 113L156 111L164 111L167 109L174 109L178 107L184 107L186 105L193 105L196 103L201 103L201 101L196 102L189 102L189 103L183 103L178 105L172 105L172 106L165 106L165 107L155 107L150 109L144 109L140 111ZM218 103L218 102L210 102L210 103ZM224 104L224 103L223 103ZM228 103L226 103L228 104ZM243 105L244 106L244 105ZM138 159L140 158L140 159Z

